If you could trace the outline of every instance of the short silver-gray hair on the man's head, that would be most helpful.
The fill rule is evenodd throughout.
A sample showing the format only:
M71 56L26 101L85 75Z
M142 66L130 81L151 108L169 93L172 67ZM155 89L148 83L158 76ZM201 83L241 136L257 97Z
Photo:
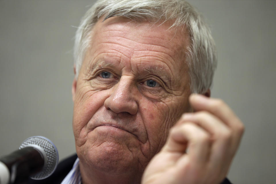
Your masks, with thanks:
M191 93L205 93L212 85L217 53L210 28L202 16L183 0L99 0L84 15L76 31L74 64L78 77L91 38L89 34L100 18L127 17L137 21L173 21L172 27L187 28L190 45L186 62L189 66Z

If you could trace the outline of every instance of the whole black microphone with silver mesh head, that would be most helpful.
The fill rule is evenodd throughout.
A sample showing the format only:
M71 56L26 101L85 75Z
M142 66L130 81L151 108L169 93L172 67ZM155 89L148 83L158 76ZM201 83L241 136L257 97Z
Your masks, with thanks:
M29 137L19 150L0 158L0 184L20 183L32 179L45 179L55 170L58 152L49 139Z

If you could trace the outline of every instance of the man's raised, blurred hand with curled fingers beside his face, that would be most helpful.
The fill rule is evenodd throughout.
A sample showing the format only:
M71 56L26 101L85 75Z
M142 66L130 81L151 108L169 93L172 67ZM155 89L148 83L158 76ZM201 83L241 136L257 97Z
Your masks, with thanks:
M192 94L194 110L170 130L166 144L148 164L143 184L221 183L237 151L244 125L220 99Z

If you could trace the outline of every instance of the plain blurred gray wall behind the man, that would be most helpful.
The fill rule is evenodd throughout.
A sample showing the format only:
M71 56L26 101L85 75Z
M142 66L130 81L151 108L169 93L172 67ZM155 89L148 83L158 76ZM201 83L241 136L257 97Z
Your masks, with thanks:
M0 156L33 135L75 152L71 83L73 37L94 1L0 1ZM246 126L229 178L275 178L275 1L189 1L211 24L219 64L212 97Z

